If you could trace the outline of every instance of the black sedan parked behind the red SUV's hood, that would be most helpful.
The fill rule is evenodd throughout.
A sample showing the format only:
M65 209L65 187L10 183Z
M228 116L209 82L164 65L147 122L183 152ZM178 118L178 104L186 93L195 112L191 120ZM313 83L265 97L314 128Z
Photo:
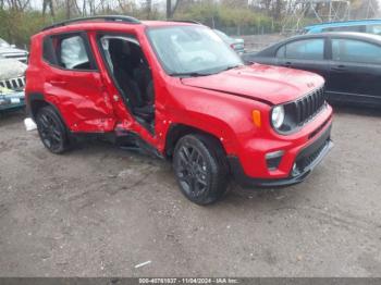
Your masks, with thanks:
M296 36L245 62L282 65L318 73L325 78L330 102L381 107L381 37L360 33Z

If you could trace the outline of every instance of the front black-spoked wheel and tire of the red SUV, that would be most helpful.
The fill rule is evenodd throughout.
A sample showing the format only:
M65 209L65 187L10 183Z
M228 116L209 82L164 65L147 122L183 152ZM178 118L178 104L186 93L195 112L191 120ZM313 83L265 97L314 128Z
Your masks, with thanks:
M173 170L181 191L197 205L213 203L226 193L226 157L213 137L199 134L182 137L174 149Z

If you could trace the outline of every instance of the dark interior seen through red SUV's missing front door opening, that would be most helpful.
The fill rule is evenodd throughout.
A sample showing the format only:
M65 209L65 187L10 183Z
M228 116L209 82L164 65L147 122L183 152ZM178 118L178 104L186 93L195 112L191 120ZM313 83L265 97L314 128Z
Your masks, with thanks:
M102 36L109 71L135 117L152 126L155 91L151 71L138 41L132 37Z

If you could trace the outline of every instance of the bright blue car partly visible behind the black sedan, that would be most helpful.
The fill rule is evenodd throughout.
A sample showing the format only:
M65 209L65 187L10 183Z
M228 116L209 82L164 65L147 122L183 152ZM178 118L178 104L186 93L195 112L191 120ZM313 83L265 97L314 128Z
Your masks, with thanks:
M318 34L325 32L357 32L381 35L381 20L373 18L321 23L305 27L303 34Z

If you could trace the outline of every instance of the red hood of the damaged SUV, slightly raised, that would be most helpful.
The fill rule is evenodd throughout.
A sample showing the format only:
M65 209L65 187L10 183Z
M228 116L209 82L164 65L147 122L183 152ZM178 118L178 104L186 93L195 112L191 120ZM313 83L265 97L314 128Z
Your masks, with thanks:
M268 104L293 101L320 87L317 74L262 64L241 66L219 74L183 78L187 86L241 96Z

